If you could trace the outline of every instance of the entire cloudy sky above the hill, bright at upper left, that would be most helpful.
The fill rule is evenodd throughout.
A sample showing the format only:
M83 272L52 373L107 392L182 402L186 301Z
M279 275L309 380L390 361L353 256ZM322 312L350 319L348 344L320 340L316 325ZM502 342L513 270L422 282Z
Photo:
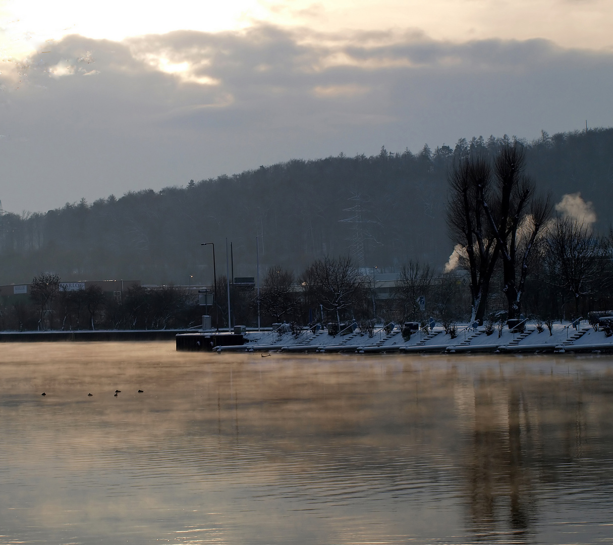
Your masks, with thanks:
M11 212L613 126L611 0L0 0Z

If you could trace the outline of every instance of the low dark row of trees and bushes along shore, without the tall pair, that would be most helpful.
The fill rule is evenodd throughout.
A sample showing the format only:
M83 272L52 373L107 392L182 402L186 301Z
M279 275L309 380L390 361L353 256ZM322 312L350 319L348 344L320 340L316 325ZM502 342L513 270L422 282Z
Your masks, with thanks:
M547 228L525 276L521 309L543 321L587 316L591 310L613 308L611 237L598 238L590 227L558 218ZM59 289L59 277L34 278L30 300L0 305L0 327L5 330L184 329L198 326L202 314L211 314L213 326L262 326L293 322L307 326L356 321L361 327L376 322L417 321L429 318L452 324L466 321L474 311L471 277L462 270L435 276L432 267L411 261L394 282L375 282L357 269L349 257L324 257L299 275L270 267L256 289L230 284L230 312L226 278L218 279L216 305L200 307L196 290L162 286L134 287L122 297L104 294L97 286L77 291ZM508 318L504 267L490 277L484 321ZM335 325L336 327L336 325Z

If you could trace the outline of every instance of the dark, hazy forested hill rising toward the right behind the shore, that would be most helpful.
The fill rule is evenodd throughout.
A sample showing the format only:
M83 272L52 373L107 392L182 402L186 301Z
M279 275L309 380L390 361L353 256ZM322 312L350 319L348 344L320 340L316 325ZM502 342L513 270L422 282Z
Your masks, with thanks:
M143 283L208 282L215 242L218 275L225 240L234 275L253 276L256 236L262 267L300 273L325 254L351 253L362 266L397 267L421 259L441 269L451 253L445 205L447 173L471 150L495 153L504 139L460 140L418 153L292 160L185 188L128 192L93 204L1 217L0 283L42 271L63 280L138 278ZM555 202L581 192L594 203L597 227L613 215L613 129L543 134L526 143L528 173ZM112 160L112 158L109 158Z

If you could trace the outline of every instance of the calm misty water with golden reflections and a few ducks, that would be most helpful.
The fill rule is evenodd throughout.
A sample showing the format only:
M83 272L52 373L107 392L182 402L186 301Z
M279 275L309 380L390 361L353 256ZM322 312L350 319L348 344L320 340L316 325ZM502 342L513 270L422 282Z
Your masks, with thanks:
M609 357L0 349L1 544L613 541Z

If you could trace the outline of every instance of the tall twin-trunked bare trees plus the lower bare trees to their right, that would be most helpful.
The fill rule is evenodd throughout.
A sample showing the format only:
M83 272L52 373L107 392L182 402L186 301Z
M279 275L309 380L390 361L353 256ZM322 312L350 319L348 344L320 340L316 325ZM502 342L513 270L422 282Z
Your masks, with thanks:
M539 312L540 299L547 316L563 316L568 296L576 316L582 298L608 303L603 297L611 289L613 237L598 236L591 223L568 213L552 218L551 198L536 192L525 157L524 146L513 142L493 157L468 154L449 176L447 224L459 264L470 275L471 321L482 322L491 310L494 279L508 318L519 318L528 288L530 310Z

